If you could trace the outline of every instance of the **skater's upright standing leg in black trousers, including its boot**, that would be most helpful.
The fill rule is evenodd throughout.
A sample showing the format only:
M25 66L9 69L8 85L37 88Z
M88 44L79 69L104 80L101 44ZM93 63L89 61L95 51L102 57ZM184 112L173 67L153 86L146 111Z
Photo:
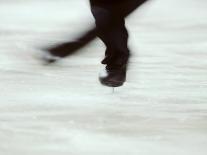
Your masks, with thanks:
M97 35L106 45L105 59L102 61L103 64L106 64L106 74L100 76L99 79L104 85L118 87L123 85L126 80L129 58L125 17L140 6L144 0L123 0L117 4L114 1L110 4L95 3L96 0L91 1L94 2L91 5L91 10L96 21ZM135 4L136 7L132 6Z

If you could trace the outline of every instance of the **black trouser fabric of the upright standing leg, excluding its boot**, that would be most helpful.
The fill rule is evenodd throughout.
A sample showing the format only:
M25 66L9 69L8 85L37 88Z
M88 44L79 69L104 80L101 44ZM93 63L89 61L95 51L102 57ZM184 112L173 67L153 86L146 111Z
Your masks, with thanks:
M126 64L129 57L125 17L146 0L90 0L96 21L97 35L106 45L108 65Z

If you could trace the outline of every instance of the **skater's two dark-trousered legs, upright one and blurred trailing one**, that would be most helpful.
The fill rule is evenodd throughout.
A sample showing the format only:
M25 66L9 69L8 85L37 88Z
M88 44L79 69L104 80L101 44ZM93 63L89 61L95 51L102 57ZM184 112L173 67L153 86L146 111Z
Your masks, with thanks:
M106 64L107 74L99 78L101 83L112 87L123 85L130 55L125 17L145 1L147 0L90 0L96 27L88 30L74 42L62 43L47 49L49 54L60 58L69 56L98 36L106 45L102 64ZM50 63L55 60L47 59Z

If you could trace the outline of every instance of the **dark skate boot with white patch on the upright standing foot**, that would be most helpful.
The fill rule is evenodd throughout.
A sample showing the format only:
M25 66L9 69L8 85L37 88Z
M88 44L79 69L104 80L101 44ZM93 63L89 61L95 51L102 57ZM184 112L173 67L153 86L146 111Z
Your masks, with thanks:
M120 87L126 81L126 69L126 64L113 67L107 65L105 70L100 73L99 81L108 87Z

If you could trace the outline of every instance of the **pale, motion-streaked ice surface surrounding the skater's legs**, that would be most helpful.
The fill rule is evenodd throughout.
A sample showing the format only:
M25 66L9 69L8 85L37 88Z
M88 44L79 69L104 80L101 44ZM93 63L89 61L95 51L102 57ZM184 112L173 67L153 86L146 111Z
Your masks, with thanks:
M93 22L87 0L0 0L0 155L206 155L207 1L151 0L127 18L115 93L98 81L99 39L38 59Z

